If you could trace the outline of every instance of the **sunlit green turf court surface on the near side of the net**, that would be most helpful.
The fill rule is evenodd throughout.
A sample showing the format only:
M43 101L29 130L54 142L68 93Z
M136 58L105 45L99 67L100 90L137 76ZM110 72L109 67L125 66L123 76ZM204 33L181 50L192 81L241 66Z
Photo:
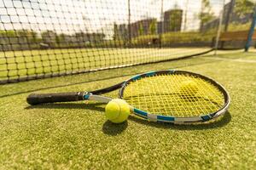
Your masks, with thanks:
M113 124L103 115L105 105L96 102L26 104L31 92L93 90L165 69L217 80L230 93L229 111L216 122L200 125L146 122L133 115L128 122ZM0 169L253 169L255 92L256 53L238 50L1 85Z

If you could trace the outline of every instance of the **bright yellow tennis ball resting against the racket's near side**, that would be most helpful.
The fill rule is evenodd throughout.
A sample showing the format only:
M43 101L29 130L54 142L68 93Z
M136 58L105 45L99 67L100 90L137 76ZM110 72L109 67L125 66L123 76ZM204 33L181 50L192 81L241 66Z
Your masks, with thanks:
M123 99L112 99L105 108L105 116L114 123L125 122L130 114L130 106Z

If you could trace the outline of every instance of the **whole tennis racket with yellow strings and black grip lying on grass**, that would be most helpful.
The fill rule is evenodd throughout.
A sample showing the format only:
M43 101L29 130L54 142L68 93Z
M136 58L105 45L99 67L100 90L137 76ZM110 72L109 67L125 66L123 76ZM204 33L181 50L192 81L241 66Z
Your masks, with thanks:
M182 84L188 81L193 85L186 86L184 90ZM118 88L119 98L125 99L135 115L153 122L206 122L223 115L230 105L230 95L212 78L173 70L143 73L96 91L30 94L26 100L30 105L78 100L108 103L111 98L99 94Z

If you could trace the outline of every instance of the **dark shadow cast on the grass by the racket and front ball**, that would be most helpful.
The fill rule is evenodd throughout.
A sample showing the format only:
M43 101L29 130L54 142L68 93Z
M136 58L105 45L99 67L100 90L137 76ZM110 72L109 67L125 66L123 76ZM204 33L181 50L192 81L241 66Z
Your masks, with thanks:
M103 103L54 103L54 104L44 104L44 105L29 105L25 109L83 109L83 110L90 110L90 111L100 111L102 114L105 111L105 104ZM165 123L165 122L148 122L144 119L134 116L131 114L128 118L128 122L136 122L143 125L147 125L150 127L157 127L157 128L166 128L166 129L177 129L177 130L205 130L217 127L224 127L231 121L230 112L227 111L224 116L218 117L217 120L212 122L203 122L198 124L191 124L191 125L177 125L172 123ZM110 121L104 122L102 126L102 132L108 135L117 135L122 133L126 127L128 126L128 122L123 122L120 124L114 124Z

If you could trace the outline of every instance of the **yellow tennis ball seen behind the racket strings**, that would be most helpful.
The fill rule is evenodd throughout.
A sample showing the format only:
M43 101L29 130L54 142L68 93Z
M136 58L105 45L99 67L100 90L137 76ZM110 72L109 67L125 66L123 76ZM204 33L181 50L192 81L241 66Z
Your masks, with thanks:
M180 85L180 93L183 95L195 95L198 92L197 83L191 80L184 81Z

